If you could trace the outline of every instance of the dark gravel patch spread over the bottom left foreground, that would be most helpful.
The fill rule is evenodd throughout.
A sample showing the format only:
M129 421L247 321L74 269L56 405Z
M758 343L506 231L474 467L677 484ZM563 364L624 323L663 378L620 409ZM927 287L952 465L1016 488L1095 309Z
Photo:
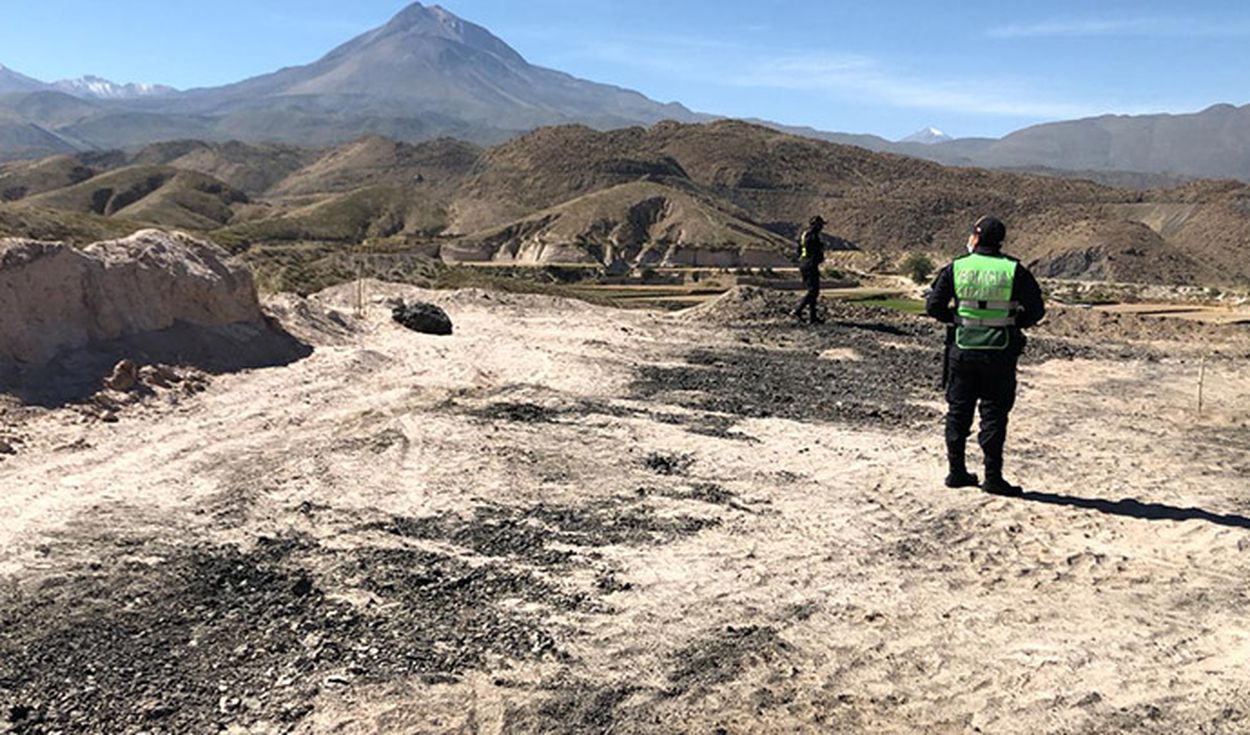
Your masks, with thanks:
M312 554L329 556L329 579L305 568ZM559 630L499 602L586 604L524 570L411 549L126 542L99 555L0 601L0 716L14 732L291 724L324 688L559 655ZM329 600L324 584L386 609Z

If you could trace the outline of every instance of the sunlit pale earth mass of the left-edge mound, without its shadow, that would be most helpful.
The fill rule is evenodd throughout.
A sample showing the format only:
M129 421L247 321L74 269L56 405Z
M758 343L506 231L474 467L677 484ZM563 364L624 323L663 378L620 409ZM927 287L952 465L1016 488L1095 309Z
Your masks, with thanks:
M182 234L144 230L81 250L0 240L0 365L175 325L264 324L246 268Z

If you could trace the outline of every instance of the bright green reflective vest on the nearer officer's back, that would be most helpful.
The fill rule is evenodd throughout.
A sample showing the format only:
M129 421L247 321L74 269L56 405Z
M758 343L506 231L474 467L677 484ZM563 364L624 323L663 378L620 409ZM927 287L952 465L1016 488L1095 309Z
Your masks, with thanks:
M1011 300L1018 262L974 252L955 260L955 345L1005 350L1019 304Z

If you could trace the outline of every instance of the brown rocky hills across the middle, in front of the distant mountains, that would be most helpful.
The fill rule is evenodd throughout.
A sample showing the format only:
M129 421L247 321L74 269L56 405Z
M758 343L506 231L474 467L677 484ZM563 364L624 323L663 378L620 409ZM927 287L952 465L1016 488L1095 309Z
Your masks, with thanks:
M1141 191L944 168L735 121L546 128L489 149L378 136L320 151L175 142L4 165L0 192L12 200L0 228L46 224L35 212L58 208L195 230L235 250L370 240L450 260L624 266L785 262L812 214L829 220L831 246L941 260L994 212L1009 249L1050 275L1250 281L1244 184Z

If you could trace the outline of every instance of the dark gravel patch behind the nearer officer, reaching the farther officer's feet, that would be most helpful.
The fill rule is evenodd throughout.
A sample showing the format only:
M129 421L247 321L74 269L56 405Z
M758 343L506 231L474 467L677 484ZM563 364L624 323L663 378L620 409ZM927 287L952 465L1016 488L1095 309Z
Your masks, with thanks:
M736 344L702 345L675 355L681 365L644 366L632 385L640 400L680 405L704 415L780 418L898 429L930 426L941 400L945 326L885 308L828 302L824 325L788 315L785 295L745 294L709 305L701 318L729 328ZM1044 330L1042 330L1044 331ZM832 349L858 360L829 360ZM1140 345L1031 336L1024 364L1075 359L1144 359Z

